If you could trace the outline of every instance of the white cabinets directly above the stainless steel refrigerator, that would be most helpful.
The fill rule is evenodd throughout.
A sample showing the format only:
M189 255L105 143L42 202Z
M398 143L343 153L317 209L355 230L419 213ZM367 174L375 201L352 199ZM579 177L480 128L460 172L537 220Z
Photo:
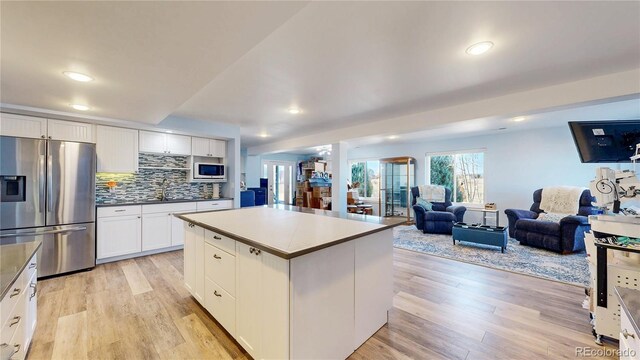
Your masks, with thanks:
M0 114L0 135L95 143L95 131L93 124Z

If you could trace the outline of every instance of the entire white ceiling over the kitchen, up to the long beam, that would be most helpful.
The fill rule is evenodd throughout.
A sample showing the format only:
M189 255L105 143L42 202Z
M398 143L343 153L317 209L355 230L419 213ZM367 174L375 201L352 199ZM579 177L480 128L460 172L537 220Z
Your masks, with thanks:
M1 7L2 103L228 122L243 147L640 67L640 2ZM482 40L494 49L465 54ZM96 81L67 81L68 69Z

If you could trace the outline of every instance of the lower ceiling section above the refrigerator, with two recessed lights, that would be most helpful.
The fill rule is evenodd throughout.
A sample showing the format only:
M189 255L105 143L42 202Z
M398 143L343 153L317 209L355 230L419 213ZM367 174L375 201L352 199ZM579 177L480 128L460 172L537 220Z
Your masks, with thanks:
M157 124L305 5L2 1L0 100Z

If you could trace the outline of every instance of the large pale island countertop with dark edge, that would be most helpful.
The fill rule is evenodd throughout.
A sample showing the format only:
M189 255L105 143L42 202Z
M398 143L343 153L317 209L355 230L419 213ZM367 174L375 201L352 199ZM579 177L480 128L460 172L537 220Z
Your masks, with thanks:
M176 214L178 218L284 259L390 229L404 219L295 206Z

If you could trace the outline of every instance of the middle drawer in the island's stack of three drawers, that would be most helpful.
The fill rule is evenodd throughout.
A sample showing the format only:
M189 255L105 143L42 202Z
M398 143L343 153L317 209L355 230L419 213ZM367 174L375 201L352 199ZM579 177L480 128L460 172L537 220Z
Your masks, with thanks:
M231 296L236 295L236 257L210 244L205 244L204 273Z

